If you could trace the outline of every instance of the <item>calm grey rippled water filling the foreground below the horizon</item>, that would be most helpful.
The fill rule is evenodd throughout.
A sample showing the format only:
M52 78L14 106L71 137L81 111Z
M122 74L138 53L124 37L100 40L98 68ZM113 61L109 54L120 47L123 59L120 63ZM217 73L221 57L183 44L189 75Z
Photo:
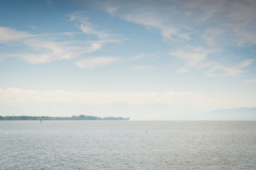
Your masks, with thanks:
M0 121L0 169L256 169L256 122Z

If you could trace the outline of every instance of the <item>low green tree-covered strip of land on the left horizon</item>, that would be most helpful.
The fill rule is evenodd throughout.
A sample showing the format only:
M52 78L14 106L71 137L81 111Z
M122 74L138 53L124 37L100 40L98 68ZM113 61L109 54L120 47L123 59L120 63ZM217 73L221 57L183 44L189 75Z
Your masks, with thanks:
M52 117L52 116L30 116L30 115L6 115L1 116L0 120L129 120L122 117L100 118L94 115L73 115L71 117Z

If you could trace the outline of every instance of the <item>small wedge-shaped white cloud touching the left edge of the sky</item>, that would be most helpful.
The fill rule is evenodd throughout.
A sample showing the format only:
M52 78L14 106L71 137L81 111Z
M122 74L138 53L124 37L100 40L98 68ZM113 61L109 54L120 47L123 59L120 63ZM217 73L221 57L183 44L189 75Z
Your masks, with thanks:
M32 36L33 35L23 31L0 27L0 42L21 40L23 38L29 38Z

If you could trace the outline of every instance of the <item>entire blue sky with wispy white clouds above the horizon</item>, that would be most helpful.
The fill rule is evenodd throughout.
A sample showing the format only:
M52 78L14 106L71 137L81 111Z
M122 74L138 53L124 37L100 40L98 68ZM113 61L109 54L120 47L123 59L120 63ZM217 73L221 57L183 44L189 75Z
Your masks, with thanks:
M0 115L203 120L256 107L256 1L0 2Z

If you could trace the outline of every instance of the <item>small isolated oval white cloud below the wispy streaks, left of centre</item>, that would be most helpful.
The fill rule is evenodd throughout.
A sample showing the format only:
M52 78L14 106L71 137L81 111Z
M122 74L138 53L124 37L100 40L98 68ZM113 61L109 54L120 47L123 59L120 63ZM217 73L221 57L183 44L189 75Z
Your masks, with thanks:
M91 57L85 60L80 60L76 64L80 68L94 69L96 67L104 67L108 64L119 62L120 60L119 57Z

